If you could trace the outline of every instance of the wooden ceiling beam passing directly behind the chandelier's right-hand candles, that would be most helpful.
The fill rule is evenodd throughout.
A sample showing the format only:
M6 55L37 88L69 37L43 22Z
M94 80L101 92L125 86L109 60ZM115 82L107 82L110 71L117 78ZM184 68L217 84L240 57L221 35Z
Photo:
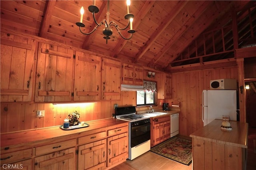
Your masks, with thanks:
M140 21L144 19L148 11L152 8L153 4L155 3L154 0L148 0L144 4L144 6L141 8L140 12L138 15L134 17L134 22L133 23L133 29L136 30L136 28L140 25ZM130 33L126 32L124 33L124 37L128 37ZM136 34L136 33L135 33ZM111 57L117 58L118 53L124 48L124 45L127 43L127 40L121 39L118 44L116 45L114 51L111 53Z

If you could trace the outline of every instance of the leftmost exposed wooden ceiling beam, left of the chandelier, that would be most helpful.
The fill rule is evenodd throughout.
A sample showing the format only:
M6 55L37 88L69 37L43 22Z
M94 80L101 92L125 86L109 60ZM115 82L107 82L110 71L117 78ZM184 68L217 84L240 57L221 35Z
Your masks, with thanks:
M46 38L56 0L49 0L42 20L39 37Z

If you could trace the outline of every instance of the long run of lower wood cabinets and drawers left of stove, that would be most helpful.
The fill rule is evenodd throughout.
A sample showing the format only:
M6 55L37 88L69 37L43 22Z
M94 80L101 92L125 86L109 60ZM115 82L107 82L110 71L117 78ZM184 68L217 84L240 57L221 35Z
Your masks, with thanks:
M125 122L19 146L1 147L0 169L103 170L113 168L127 158L128 122Z

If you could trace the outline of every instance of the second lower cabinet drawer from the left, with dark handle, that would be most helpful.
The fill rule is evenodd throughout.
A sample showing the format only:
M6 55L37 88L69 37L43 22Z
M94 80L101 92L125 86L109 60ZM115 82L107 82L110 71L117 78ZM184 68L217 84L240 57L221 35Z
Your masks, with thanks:
M76 139L44 145L42 147L36 147L36 155L56 152L58 150L63 150L63 149L67 149L75 146L76 146Z

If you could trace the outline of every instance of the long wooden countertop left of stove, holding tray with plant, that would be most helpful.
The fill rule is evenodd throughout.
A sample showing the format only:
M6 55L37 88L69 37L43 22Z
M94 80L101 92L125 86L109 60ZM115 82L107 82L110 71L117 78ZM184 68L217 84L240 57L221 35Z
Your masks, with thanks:
M118 125L120 123L128 123L128 121L123 121L120 119L107 118L100 119L96 121L87 121L88 127L73 129L73 130L62 130L60 126L41 128L41 129L31 129L25 131L2 133L1 138L1 148L9 147L13 145L22 145L24 143L31 143L40 140L53 139L56 137L64 137L66 135L79 134L83 132L89 132L90 130L100 129L109 127L112 125Z

